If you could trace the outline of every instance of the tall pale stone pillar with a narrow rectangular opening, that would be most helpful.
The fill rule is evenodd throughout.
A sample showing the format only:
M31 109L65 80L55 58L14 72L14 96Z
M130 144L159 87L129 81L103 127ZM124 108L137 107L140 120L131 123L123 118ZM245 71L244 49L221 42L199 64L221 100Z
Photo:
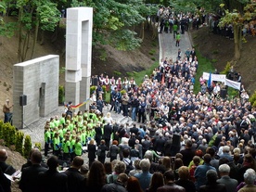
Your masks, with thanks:
M92 33L93 8L68 8L65 100L73 105L90 97Z

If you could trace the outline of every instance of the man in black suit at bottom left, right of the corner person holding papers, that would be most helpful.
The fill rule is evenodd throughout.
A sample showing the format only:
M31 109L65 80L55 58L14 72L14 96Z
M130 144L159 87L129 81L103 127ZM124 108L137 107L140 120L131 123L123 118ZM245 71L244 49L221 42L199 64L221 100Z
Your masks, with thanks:
M25 168L22 171L19 188L22 192L40 191L39 173L46 172L47 169L41 166L42 154L39 150L32 152L32 166Z

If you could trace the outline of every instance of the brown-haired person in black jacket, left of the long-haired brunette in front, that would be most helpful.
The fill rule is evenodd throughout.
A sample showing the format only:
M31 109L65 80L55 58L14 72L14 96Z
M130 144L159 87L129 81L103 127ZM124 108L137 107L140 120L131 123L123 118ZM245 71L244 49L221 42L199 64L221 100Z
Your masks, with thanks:
M71 163L70 168L64 173L68 176L69 191L82 192L84 191L84 176L79 172L83 165L83 158L76 156Z

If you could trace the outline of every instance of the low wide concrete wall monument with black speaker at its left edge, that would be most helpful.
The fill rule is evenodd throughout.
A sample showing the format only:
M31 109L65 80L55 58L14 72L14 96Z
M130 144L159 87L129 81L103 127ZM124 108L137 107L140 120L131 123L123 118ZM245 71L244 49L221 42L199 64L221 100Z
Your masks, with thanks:
M24 128L58 109L59 57L48 55L14 65L13 125Z

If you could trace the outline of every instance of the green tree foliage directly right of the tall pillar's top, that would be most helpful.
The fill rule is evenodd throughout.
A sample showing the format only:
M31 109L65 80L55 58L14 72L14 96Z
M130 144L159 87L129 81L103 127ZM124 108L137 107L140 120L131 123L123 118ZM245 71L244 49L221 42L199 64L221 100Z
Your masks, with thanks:
M71 6L94 7L93 45L112 45L119 50L133 50L141 43L134 26L145 18L140 14L142 0L72 1Z

